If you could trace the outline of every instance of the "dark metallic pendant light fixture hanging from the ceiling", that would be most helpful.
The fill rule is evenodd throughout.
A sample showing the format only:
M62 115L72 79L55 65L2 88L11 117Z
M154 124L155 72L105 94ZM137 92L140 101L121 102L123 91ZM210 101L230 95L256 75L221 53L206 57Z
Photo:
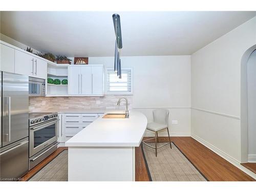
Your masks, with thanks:
M114 60L114 71L117 72L117 76L121 79L121 58L120 52L122 49L122 35L121 35L121 24L120 24L120 16L118 14L113 14L113 23L115 28L115 60Z

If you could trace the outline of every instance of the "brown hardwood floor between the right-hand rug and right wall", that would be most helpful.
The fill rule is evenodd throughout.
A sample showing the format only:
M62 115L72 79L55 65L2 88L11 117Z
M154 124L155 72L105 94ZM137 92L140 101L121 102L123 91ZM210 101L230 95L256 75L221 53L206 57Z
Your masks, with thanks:
M147 138L149 137L144 139ZM167 141L168 137L159 137L159 142ZM171 141L180 148L183 154L209 181L255 181L242 170L191 137L172 137Z

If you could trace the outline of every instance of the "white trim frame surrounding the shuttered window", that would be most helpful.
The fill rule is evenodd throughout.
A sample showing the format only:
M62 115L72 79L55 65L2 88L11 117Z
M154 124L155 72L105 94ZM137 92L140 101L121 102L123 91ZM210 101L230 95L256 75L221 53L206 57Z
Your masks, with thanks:
M113 70L113 67L105 67L105 95L133 95L133 67L122 67L122 70L131 70L131 92L128 91L108 91L108 70Z

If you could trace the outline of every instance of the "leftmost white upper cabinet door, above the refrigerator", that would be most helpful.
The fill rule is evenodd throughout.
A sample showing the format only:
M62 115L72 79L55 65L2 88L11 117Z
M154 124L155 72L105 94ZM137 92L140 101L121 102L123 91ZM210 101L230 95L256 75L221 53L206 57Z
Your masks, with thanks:
M0 71L14 73L14 49L0 44Z

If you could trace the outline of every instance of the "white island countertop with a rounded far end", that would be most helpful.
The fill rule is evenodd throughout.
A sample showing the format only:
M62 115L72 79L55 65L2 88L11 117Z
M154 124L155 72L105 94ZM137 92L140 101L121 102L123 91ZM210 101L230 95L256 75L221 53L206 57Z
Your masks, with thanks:
M98 118L69 139L68 147L135 147L146 130L147 119L140 112L130 111L124 119Z

